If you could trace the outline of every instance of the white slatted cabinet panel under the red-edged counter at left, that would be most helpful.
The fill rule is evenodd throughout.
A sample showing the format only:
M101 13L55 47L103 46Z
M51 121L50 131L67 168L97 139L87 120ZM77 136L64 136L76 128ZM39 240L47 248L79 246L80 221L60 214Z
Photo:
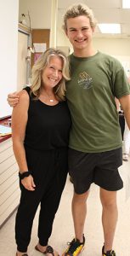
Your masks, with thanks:
M12 138L0 143L0 228L18 207L20 188Z

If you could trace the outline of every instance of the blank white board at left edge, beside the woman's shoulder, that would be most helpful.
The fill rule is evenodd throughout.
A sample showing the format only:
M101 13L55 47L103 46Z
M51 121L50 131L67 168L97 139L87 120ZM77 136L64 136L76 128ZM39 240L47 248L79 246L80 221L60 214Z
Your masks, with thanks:
M0 118L12 112L8 92L16 90L19 0L0 1Z

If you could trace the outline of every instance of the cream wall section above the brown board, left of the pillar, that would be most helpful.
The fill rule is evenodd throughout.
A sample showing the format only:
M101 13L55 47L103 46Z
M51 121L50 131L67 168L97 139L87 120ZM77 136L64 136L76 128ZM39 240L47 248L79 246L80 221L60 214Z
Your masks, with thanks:
M19 21L21 14L31 16L32 28L50 28L51 26L51 0L20 0ZM28 16L26 16L29 25Z

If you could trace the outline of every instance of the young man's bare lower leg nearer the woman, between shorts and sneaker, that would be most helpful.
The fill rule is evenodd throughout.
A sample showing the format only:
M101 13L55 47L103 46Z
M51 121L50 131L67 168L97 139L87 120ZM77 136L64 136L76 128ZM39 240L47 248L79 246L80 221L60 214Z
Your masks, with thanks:
M85 218L87 214L87 199L88 199L89 191L83 193L82 195L77 195L74 192L72 199L72 216L74 221L74 228L76 239L79 241L83 241L83 229Z

